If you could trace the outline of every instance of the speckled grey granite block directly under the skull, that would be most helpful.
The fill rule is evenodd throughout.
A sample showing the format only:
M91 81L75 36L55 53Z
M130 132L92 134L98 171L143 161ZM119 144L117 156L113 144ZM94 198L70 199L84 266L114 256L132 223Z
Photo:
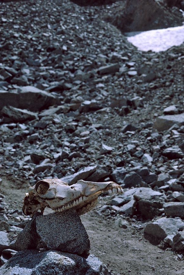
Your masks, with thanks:
M37 217L36 231L47 250L89 254L90 240L75 209Z

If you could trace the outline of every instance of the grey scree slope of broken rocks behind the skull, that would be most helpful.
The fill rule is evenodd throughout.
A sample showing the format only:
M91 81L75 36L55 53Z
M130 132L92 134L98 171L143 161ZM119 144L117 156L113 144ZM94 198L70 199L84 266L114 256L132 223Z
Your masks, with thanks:
M98 213L120 226L153 219L145 237L173 235L163 246L183 251L184 237L173 237L184 217L184 44L138 51L104 20L118 3L2 2L0 175L16 188L113 180L125 195L102 197ZM4 221L11 203L1 202ZM166 229L178 220L173 234L154 235L160 219Z

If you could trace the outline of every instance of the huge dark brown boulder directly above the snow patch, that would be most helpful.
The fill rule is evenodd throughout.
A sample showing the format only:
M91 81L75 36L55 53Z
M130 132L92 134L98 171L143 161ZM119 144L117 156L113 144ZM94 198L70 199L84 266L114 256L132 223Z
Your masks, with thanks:
M111 9L105 19L121 31L148 31L182 25L182 13L164 7L156 0L127 0Z

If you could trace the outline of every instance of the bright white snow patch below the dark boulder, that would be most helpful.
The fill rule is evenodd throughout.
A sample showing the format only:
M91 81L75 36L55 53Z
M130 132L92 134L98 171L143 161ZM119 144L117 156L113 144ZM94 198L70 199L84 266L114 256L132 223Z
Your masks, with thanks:
M184 42L184 26L126 33L127 39L141 51L160 52Z

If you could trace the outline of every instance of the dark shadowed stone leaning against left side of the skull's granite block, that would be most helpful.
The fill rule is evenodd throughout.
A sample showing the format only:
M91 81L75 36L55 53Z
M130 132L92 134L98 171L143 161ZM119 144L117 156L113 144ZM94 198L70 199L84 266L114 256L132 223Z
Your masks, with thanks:
M31 221L26 224L24 229L20 233L18 233L16 242L10 245L10 248L17 251L37 248L41 239L36 232L36 218L40 215L41 213L37 212L33 216Z

